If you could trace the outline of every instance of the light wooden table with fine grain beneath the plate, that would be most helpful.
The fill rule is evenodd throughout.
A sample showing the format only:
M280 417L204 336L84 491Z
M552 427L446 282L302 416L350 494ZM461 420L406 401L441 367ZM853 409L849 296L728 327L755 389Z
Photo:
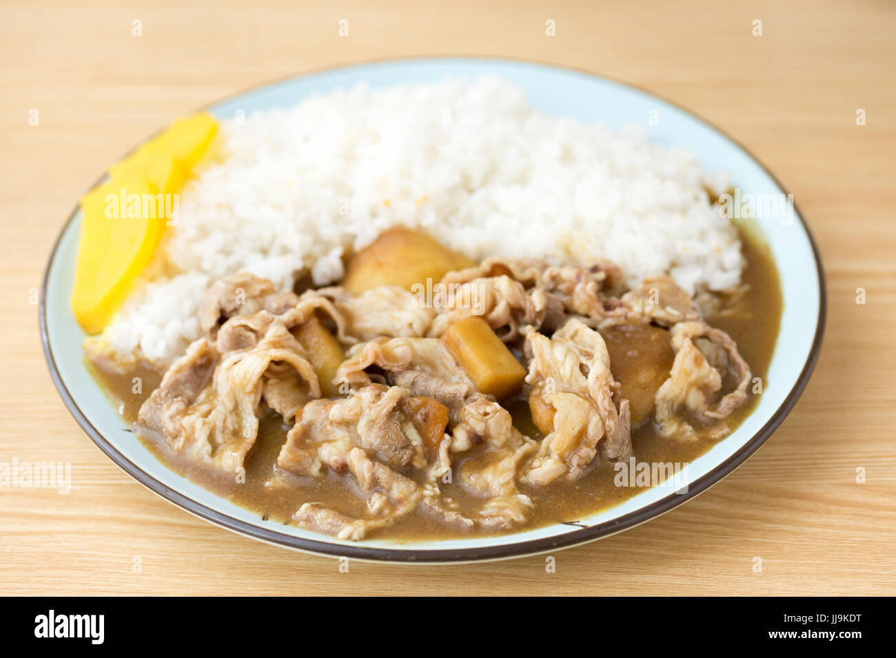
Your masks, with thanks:
M892 3L106 4L0 9L0 462L73 465L68 495L0 489L0 594L896 594ZM452 54L630 81L707 117L780 177L829 285L823 353L797 408L711 491L556 553L555 574L544 557L340 573L143 489L79 429L41 354L34 290L79 194L136 141L211 100L334 64Z

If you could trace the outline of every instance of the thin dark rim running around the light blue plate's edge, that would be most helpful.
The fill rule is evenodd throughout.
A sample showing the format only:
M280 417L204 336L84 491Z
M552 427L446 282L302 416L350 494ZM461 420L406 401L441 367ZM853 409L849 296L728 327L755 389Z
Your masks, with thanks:
M313 71L307 71L305 73L299 73L297 75L290 75L279 80L267 81L258 85L254 85L253 87L250 87L246 90L241 90L235 94L231 94L226 98L220 98L219 100L203 106L202 108L200 108L200 110L197 111L218 106L236 98L241 98L246 94L250 94L258 90L263 90L282 82L288 82L318 73L330 73L339 71L340 69L358 68L370 65L375 66L378 64L411 64L415 62L450 64L452 60L480 64L520 64L541 67L548 70L554 70L556 72L577 73L591 78L596 78L598 80L611 82L628 90L635 90L652 98L657 98L658 100L667 103L669 106L675 107L678 111L684 113L685 115L689 115L694 120L710 128L712 131L717 132L719 136L729 141L731 144L737 147L737 149L745 153L747 157L751 158L754 164L760 167L762 171L769 176L771 181L776 184L782 192L788 193L787 189L782 184L780 184L780 181L771 173L768 167L765 167L762 162L758 158L756 158L753 153L745 149L745 147L740 142L728 135L727 132L719 129L719 127L717 127L715 124L711 124L711 122L706 121L704 118L702 118L702 116L694 114L694 112L678 105L673 101L668 100L668 98L663 98L652 91L644 90L635 85L623 81L618 81L605 75L591 73L589 71L575 69L573 67L560 66L556 64L544 64L541 62L534 62L530 60L476 56L426 56L386 58L355 64L337 64L321 69L315 69ZM140 143L142 144L143 142L151 139L151 137L152 135L150 137L147 137ZM137 147L134 147L133 150L135 150L136 148ZM133 150L129 151L129 153ZM97 182L91 185L89 189L92 189L94 186L99 184L105 177L105 174L100 176ZM325 539L317 541L306 539L304 537L297 537L291 534L274 532L267 528L254 526L239 519L228 517L228 515L223 514L215 509L209 508L206 505L203 505L202 503L185 496L183 493L172 489L167 484L159 482L159 480L155 479L151 475L146 474L139 466L135 465L134 462L122 455L93 426L93 424L90 423L90 420L88 420L87 416L83 413L81 407L78 406L78 404L75 402L71 391L69 391L69 389L66 387L65 381L62 380L59 369L56 365L56 359L53 355L53 348L52 346L50 346L47 334L47 285L50 272L53 269L53 264L56 260L56 253L58 252L59 244L62 241L62 238L65 235L65 231L67 230L68 226L72 224L74 218L78 213L78 205L75 205L72 213L65 221L65 225L62 227L59 235L56 237L56 242L53 245L53 250L52 252L50 252L50 257L47 261L47 268L44 270L44 277L40 288L39 305L41 344L43 346L44 356L47 359L47 366L49 368L50 375L53 379L53 383L56 385L56 390L58 390L60 397L62 397L65 406L73 415L75 421L81 426L82 430L90 437L90 439L97 444L99 449L102 450L103 453L105 453L106 456L109 457L109 459L111 459L117 466L124 470L125 473L131 475L134 480L141 483L147 489L155 492L165 500L174 503L175 505L177 505L177 507L183 508L187 512L194 514L194 516L205 519L206 521L228 529L236 534L242 534L262 541L264 543L272 543L297 551L305 551L308 553L314 553L316 555L322 555L326 557L348 557L358 560L377 560L400 562L406 564L470 562L519 558L527 555L544 553L546 551L553 551L556 549L570 548L582 543L588 543L597 539L601 539L603 537L607 537L611 534L622 532L624 530L632 528L633 526L638 526L646 521L649 521L652 518L659 517L662 514L670 511L671 509L682 505L683 503L685 503L685 501L693 499L703 491L709 489L715 483L718 483L728 474L732 473L735 469L737 469L737 466L743 464L748 457L753 455L754 452L759 449L766 440L769 439L771 434L778 429L780 423L784 421L793 407L797 404L797 399L800 397L803 390L806 389L806 384L808 383L809 378L812 375L815 363L817 363L818 356L821 353L824 334L824 323L827 315L827 286L824 279L821 254L818 251L818 245L815 243L814 236L809 230L809 226L806 224L806 220L803 218L803 214L797 208L796 203L794 203L794 210L797 214L797 218L799 219L800 224L806 232L809 244L812 247L816 276L818 278L819 300L818 318L815 323L815 332L812 346L810 347L808 355L806 356L806 362L803 365L802 371L797 377L797 380L794 382L793 387L788 392L787 397L784 398L784 401L781 403L775 413L771 415L769 420L762 426L762 428L758 432L755 432L749 440L746 440L740 449L737 449L737 451L735 451L730 457L728 457L728 459L719 464L719 466L713 468L709 473L702 475L702 477L694 480L694 482L688 483L688 489L686 493L671 493L667 497L650 503L649 505L646 505L643 508L639 508L631 513L616 517L607 522L599 523L595 526L583 527L581 529L554 537L545 537L519 543L499 543L496 545L478 546L474 548L426 550L380 548L375 546L367 546L363 542L360 542L357 545L329 543Z

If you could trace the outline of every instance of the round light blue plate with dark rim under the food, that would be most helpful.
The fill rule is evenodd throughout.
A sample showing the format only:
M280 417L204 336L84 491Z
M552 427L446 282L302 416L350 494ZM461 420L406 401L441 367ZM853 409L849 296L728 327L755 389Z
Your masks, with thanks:
M736 141L684 109L617 81L543 64L434 58L353 65L273 82L206 109L219 117L232 117L238 111L289 107L311 94L348 88L359 82L383 87L486 74L512 81L526 92L533 107L549 114L599 121L612 129L623 124L643 125L648 123L645 117L661 116L661 121L653 122L658 125L650 127L651 140L692 151L708 171L727 170L734 184L745 192L787 194ZM789 220L759 218L757 223L780 272L784 309L766 386L754 412L736 432L687 466L684 480L676 483L682 485L678 491L654 487L575 523L500 537L444 541L372 538L360 543L345 542L265 521L169 471L125 426L82 362L84 333L69 304L81 227L77 207L47 264L40 297L40 331L56 388L84 432L135 480L198 517L263 542L330 556L398 562L500 560L590 542L658 517L734 471L784 420L805 388L821 349L825 315L823 269L812 235L795 206Z

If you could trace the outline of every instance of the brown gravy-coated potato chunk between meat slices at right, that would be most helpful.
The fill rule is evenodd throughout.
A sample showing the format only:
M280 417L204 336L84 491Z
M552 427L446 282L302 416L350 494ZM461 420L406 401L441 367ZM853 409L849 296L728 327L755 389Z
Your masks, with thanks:
M600 332L610 355L610 372L619 382L619 397L629 401L632 423L653 411L657 389L668 380L675 350L669 332L649 324L618 325Z

